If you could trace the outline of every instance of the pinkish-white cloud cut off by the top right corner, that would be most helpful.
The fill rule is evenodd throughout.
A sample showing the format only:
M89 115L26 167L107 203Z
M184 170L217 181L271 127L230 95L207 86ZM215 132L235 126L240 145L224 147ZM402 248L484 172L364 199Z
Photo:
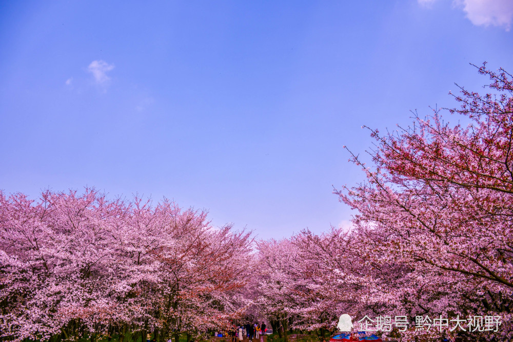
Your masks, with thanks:
M420 5L430 7L436 0L417 0ZM513 23L513 1L511 0L453 0L469 21L477 26L497 26L506 31Z

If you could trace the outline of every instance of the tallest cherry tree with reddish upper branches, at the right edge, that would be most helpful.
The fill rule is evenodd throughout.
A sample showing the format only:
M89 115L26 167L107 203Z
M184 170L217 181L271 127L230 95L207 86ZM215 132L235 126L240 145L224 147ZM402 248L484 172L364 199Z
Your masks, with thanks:
M461 88L469 121L451 125L441 111L415 117L412 127L380 134L371 129L374 166L359 156L367 182L337 191L358 210L353 223L371 269L398 265L400 284L372 287L378 304L412 314L500 315L502 340L512 337L513 81L478 68L491 82L480 95ZM381 297L381 298L380 298ZM395 298L395 299L394 299ZM449 337L462 330L444 331Z

